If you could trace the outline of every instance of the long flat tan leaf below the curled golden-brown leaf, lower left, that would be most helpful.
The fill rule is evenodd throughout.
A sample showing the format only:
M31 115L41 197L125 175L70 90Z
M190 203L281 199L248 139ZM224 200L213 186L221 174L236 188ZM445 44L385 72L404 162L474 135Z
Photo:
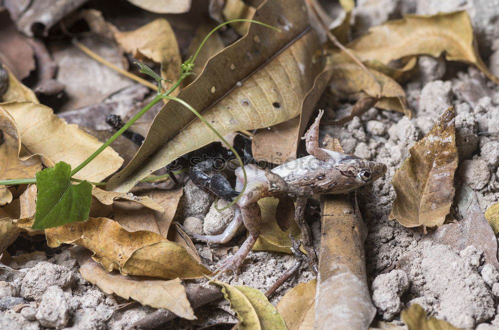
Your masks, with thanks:
M76 257L80 264L81 276L106 294L115 294L127 300L131 298L153 308L164 308L187 320L196 319L180 279L151 280L124 276L116 271L107 272L92 260L91 255L82 247L71 248L71 256Z

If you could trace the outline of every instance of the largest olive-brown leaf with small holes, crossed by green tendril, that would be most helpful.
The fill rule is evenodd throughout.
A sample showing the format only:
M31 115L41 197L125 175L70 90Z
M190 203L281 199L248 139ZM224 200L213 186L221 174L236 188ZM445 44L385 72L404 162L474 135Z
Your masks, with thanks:
M296 117L322 70L317 38L301 1L266 1L255 16L281 31L251 23L245 37L213 56L179 94L222 135ZM126 192L151 172L216 139L189 109L169 101L134 159L108 182L108 190Z

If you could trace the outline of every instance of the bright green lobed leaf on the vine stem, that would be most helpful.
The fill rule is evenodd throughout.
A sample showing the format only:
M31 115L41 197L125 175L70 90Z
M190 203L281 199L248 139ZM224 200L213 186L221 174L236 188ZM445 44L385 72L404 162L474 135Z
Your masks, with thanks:
M88 219L92 185L70 181L71 165L59 162L36 173L38 195L32 229L46 229Z

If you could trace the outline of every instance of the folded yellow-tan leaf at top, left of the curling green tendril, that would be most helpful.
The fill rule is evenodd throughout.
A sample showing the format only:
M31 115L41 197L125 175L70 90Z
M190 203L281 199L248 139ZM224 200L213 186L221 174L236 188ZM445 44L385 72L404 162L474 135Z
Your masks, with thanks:
M182 58L175 33L166 19L155 19L134 31L116 33L115 37L136 59L160 63L163 78L178 79Z

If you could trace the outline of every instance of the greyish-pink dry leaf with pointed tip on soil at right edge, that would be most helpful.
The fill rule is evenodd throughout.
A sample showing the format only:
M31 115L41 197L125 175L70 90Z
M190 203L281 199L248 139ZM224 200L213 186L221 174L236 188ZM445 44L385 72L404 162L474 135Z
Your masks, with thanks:
M456 253L474 245L484 251L485 262L499 270L496 235L480 209L475 191L463 185L458 191L457 199L463 220L442 225L424 239L449 245Z

